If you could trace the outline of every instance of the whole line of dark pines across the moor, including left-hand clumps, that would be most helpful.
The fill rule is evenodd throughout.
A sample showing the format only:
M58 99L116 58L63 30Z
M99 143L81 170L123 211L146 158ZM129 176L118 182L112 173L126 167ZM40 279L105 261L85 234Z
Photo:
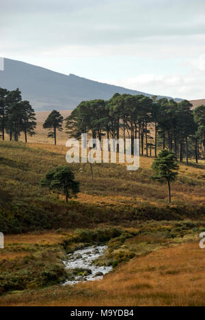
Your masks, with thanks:
M143 95L114 94L109 101L100 99L82 101L68 118L66 133L79 139L81 133L92 133L93 139L129 137L140 141L140 155L157 157L158 148L174 152L176 160L187 164L189 157L196 162L205 156L205 106L192 110L189 101L176 103L167 98L149 98ZM20 134L34 135L36 114L29 101L23 101L21 92L0 88L0 131L5 139L18 141ZM64 118L53 110L43 124L49 129L48 137L57 140ZM118 147L117 147L118 148Z

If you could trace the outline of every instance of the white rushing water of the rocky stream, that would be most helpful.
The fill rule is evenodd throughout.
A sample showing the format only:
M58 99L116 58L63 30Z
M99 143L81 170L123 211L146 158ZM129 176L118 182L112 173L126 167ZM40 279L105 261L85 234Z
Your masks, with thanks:
M97 272L102 272L103 275L107 274L109 271L111 271L113 268L110 267L98 267L97 265L92 264L96 258L99 256L102 256L104 254L105 250L107 249L107 246L98 246L98 247L88 247L83 250L77 250L72 254L72 256L68 257L67 261L64 261L64 264L66 265L66 269L90 269L92 270L92 274L85 276L82 279L79 279L81 277L75 276L75 279L73 281L66 281L64 285L66 284L76 284L81 281L93 281L93 280L101 280L103 276L95 276ZM98 252L96 252L98 250ZM82 258L74 258L74 256L77 256L77 254L81 254Z

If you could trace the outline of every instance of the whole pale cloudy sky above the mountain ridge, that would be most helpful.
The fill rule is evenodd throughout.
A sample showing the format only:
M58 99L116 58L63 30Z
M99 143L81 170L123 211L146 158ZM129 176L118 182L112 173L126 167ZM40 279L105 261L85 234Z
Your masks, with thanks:
M205 98L204 0L0 0L0 57Z

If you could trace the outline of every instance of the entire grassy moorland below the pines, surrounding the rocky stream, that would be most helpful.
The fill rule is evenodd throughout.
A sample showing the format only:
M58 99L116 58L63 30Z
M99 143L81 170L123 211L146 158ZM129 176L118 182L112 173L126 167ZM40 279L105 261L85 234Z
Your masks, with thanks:
M180 165L172 185L150 181L153 158L137 172L125 165L72 164L77 199L40 187L49 168L66 165L66 147L0 142L1 306L204 305L205 163ZM66 253L108 243L104 280L61 286ZM123 291L121 290L123 288ZM189 297L187 297L187 292Z

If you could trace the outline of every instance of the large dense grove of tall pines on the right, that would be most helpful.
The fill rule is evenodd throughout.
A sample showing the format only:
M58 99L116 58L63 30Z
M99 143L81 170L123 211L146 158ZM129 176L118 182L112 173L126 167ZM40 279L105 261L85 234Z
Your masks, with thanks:
M81 102L66 119L66 129L77 139L81 133L92 137L119 139L120 135L140 140L140 154L157 157L157 148L174 152L188 164L189 157L204 157L205 106L194 111L189 101L176 103L167 98L114 94L109 101Z

